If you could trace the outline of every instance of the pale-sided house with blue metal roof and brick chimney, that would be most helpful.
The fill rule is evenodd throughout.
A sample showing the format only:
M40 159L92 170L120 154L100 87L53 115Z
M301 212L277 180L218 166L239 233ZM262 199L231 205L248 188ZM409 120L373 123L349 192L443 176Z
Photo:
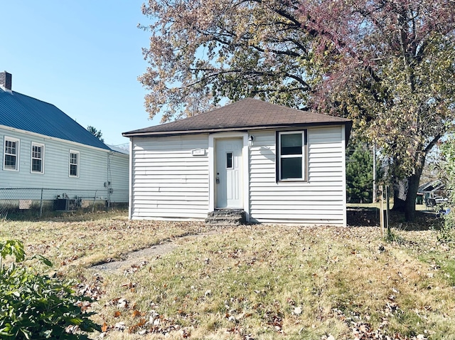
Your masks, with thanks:
M0 73L0 141L0 188L90 190L111 203L128 202L129 156L54 105L11 90L6 72Z

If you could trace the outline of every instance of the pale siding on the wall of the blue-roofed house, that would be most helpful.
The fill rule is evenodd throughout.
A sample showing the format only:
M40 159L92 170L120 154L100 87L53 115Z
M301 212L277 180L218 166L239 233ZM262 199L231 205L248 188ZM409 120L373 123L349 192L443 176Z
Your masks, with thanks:
M0 140L4 144L4 136L11 139L20 139L18 144L19 171L1 171L0 183L3 188L61 188L77 190L77 195L97 196L107 198L105 182L107 182L108 167L107 157L109 150L86 147L83 144L65 142L47 137L31 136L23 132L12 132L9 129L0 127ZM40 176L31 172L31 149L32 143L43 144L44 150L44 173ZM80 152L79 177L69 175L69 150L76 149ZM116 202L128 201L128 156L122 155L122 161L114 161L111 169L112 188L114 195L122 193L122 196L115 196ZM4 159L4 145L0 149L0 159ZM68 193L68 192L67 192ZM69 193L68 193L69 194Z

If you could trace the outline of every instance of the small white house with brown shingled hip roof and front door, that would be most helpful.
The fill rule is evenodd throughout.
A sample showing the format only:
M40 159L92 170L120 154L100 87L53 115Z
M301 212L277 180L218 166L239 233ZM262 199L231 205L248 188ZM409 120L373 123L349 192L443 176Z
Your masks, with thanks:
M204 219L242 209L252 223L346 225L349 119L245 99L124 132L132 219Z

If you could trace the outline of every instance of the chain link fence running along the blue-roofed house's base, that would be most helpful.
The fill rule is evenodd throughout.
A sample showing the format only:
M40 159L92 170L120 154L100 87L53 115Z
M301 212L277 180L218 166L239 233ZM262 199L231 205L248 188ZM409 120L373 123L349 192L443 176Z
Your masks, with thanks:
M53 216L65 211L127 208L128 191L63 188L0 188L0 219ZM119 199L118 197L123 197Z

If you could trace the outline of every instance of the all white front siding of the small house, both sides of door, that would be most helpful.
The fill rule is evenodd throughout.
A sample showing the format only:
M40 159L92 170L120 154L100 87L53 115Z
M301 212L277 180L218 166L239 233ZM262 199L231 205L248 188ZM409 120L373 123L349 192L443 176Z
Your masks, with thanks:
M276 131L250 134L255 135L254 145L247 148L250 221L346 225L342 126L306 129L304 181L277 181ZM208 149L208 139L208 134L132 138L131 218L207 217L213 208L209 206L210 157L195 156L191 150Z

